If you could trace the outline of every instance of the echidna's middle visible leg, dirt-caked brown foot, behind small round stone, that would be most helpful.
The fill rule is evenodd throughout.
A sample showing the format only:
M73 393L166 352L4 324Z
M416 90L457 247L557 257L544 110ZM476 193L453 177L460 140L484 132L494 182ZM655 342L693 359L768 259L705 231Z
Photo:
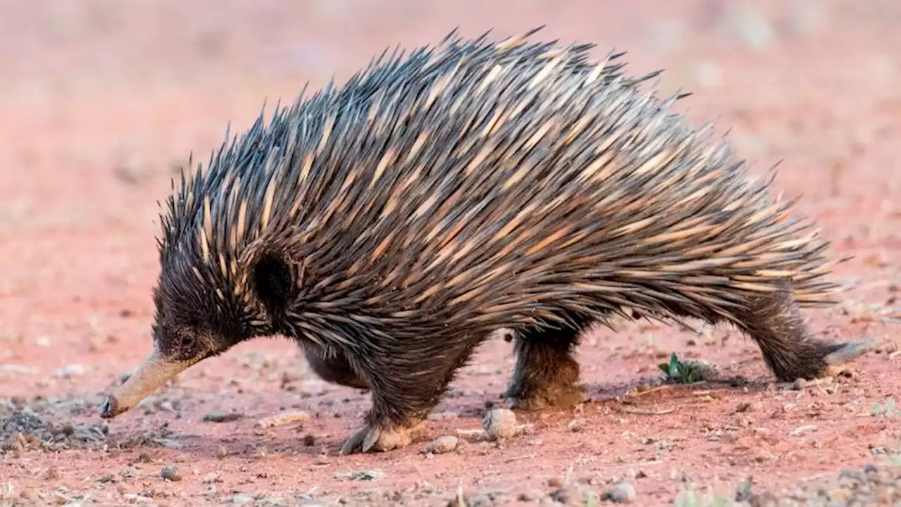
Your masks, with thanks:
M577 329L517 333L516 367L502 394L514 409L572 407L584 401L578 389L578 362L572 356Z

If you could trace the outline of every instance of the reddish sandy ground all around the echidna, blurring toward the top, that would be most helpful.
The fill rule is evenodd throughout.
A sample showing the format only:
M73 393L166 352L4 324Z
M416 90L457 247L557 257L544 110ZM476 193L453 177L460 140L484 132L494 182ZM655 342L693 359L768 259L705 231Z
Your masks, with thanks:
M901 464L899 21L888 0L3 2L0 504L582 504L630 489L642 505L901 502L889 480ZM461 437L445 454L425 449L503 406L510 344L487 343L441 417L387 454L337 456L369 400L316 380L284 340L239 346L138 410L97 417L101 393L150 350L157 200L188 152L205 158L264 99L347 78L397 43L541 24L542 38L596 42L598 57L629 51L635 73L667 69L660 88L695 92L682 106L693 120L731 129L761 171L783 160L778 186L803 195L834 253L855 256L835 274L842 304L809 312L812 326L878 350L796 390L726 328L597 330L579 348L582 409L517 413L522 435ZM743 380L634 391L671 352ZM286 410L310 418L257 428Z

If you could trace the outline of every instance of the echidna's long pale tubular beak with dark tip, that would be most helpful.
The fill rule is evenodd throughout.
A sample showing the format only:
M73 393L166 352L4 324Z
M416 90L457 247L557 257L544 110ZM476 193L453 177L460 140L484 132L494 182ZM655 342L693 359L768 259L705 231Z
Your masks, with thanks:
M110 394L100 409L100 417L112 419L131 410L150 393L187 369L192 363L174 362L154 350L138 371Z

